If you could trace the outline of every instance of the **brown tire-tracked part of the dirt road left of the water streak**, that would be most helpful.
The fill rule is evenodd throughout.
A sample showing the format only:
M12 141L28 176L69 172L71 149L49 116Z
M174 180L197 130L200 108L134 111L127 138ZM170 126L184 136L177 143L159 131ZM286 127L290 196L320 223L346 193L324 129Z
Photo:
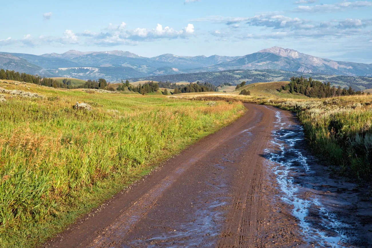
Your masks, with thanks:
M280 192L263 155L278 109L245 106L246 114L236 122L171 158L43 246L300 244L303 239L291 208L274 199Z

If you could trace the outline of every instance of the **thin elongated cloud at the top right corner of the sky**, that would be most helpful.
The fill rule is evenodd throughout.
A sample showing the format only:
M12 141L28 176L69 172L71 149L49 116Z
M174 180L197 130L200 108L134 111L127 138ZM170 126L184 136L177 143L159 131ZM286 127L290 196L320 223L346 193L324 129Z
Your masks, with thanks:
M335 4L319 4L314 6L300 5L294 12L336 12L347 9L358 9L361 7L372 7L372 1L339 2Z

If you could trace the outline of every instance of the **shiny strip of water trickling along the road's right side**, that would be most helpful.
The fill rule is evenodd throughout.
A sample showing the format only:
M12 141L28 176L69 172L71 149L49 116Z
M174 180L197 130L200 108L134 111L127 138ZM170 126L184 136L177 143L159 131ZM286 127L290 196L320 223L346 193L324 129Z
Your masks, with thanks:
M292 214L298 220L308 244L322 247L349 247L349 236L355 236L349 223L344 223L329 210L324 191L317 187L312 160L304 151L304 132L276 111L275 129L271 147L265 150L280 190L281 199L293 206ZM329 191L328 191L329 192ZM329 192L331 193L331 192ZM336 203L339 206L340 203ZM335 206L336 204L333 204ZM332 204L331 204L332 205Z

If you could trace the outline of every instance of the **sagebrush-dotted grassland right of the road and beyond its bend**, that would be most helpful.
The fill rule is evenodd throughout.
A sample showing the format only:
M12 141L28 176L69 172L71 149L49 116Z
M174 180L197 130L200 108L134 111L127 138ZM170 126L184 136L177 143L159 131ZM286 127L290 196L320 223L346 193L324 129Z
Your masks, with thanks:
M275 88L281 83L246 86L251 96L237 93L187 93L171 96L189 100L238 100L279 107L296 112L304 125L310 147L341 175L371 181L372 178L372 96L344 96L329 99L280 94L262 94L261 87ZM244 87L243 87L244 88ZM295 95L294 95L295 96Z

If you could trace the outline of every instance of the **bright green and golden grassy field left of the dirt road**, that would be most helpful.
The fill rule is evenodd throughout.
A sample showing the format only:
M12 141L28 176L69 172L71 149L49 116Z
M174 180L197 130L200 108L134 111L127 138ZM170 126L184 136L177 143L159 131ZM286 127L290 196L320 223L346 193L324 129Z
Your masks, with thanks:
M0 82L0 247L33 247L244 112L240 102ZM3 97L3 98L4 98ZM0 97L1 98L1 97ZM92 111L75 110L76 102Z

